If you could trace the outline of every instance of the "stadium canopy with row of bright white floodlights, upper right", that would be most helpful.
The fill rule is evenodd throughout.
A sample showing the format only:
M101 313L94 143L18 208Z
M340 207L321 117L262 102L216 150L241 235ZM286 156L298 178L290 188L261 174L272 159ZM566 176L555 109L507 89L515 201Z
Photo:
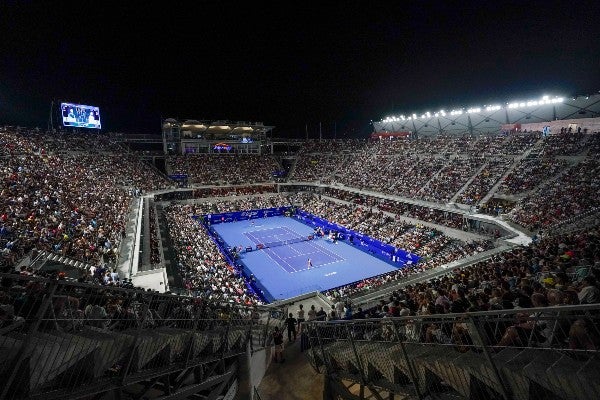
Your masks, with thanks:
M573 98L543 96L535 100L399 114L373 122L374 133L410 132L419 136L475 135L500 132L505 124L529 124L600 117L600 94Z

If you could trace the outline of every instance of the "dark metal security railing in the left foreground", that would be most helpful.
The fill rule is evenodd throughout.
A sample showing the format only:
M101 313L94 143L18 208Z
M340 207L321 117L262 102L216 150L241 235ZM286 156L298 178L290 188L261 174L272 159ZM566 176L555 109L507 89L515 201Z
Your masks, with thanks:
M267 345L272 313L0 274L0 399L81 397L231 359Z

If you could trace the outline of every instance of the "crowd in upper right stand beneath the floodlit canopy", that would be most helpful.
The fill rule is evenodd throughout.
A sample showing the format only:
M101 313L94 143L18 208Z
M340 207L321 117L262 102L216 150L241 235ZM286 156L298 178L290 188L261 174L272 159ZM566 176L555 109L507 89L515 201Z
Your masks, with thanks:
M499 185L498 193L519 194L535 189L535 193L512 210L513 221L535 229L538 225L569 217L569 212L578 213L595 207L593 199L587 201L596 188L591 173L575 169L574 176L569 173L568 177L556 181L558 187L549 184L550 191L540 184L572 163L564 157L579 155L583 150L590 156L595 154L594 151L600 148L598 136L563 133L542 137L538 132L478 137L440 135L411 140L350 142L347 146L343 141L312 141L300 155L291 179L319 180L431 202L445 203L456 196L457 203L481 205L490 210L479 203L508 173ZM539 155L523 159L510 170L516 156L535 149ZM593 161L583 165L589 166L589 163ZM473 181L460 192L471 178ZM583 199L566 204L565 191L572 192L575 187L581 188ZM548 198L549 195L552 197ZM543 216L544 210L551 205L556 210L550 217ZM526 210L522 211L524 208ZM533 210L533 215L529 210ZM540 218L547 218L547 221L537 222Z

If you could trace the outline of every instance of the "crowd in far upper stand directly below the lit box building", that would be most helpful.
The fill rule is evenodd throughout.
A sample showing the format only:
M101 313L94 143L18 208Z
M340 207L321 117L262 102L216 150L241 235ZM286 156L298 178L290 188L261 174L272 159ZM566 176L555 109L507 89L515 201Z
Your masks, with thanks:
M271 155L186 154L171 156L167 171L188 175L197 185L242 184L273 181L273 172L281 170Z

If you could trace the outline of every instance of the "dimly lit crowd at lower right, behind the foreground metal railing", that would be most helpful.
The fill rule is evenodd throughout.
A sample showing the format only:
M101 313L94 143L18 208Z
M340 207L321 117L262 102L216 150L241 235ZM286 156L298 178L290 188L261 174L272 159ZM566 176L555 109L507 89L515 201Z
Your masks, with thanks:
M566 320L566 327L557 327L554 325L556 320L536 320L544 315L527 311L533 307L599 303L598 279L600 229L595 226L541 238L528 247L519 247L495 255L491 260L453 270L445 276L408 285L369 309L352 310L350 302L342 302L345 293L333 293L336 297L332 299L337 301L334 310L341 308L344 313L331 315L333 319L363 319L518 309L520 314L516 315L515 321L492 332L495 335L486 338L491 339L488 344L598 350L600 330L583 315L575 314L570 322ZM342 306L337 307L340 302ZM468 334L468 329L457 330L460 324L456 322L460 321L451 321L441 331L440 326L422 325L409 339L466 344L464 335ZM533 332L534 329L538 331ZM383 334L385 336L385 332Z

